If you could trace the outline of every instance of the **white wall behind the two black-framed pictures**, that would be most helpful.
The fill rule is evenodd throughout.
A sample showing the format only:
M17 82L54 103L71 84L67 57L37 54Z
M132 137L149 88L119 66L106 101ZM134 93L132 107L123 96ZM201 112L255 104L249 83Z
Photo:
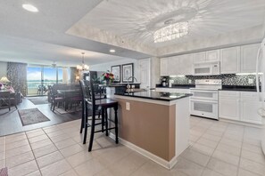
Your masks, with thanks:
M106 62L102 64L96 64L89 66L91 71L103 71L106 72L107 70L112 70L112 66L121 65L122 64L128 64L128 63L134 63L134 76L137 78L137 81L139 80L139 63L138 60L134 59L126 59L126 60L117 60L117 61L112 61L112 62Z

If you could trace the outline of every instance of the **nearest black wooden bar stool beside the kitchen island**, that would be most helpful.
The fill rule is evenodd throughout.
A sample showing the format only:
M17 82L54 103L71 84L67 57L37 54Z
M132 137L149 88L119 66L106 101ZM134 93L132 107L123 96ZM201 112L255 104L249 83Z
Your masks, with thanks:
M93 147L93 140L94 140L94 134L95 132L106 132L106 136L109 135L108 131L115 129L115 142L118 144L119 139L118 139L118 101L116 100L110 100L110 99L102 99L102 100L97 100L96 97L96 92L95 92L95 87L98 86L98 84L94 84L93 82L90 82L90 87L89 87L89 93L90 93L90 99L87 99L87 103L92 105L92 122L91 122L91 132L90 132L90 140L89 140L89 146L88 146L88 151L90 152ZM98 108L102 109L102 118L105 119L105 128L100 130L100 131L95 131L95 112L96 109ZM111 120L108 118L108 113L107 109L108 108L113 108L114 109L114 127L109 127L108 126L108 121ZM103 122L104 123L104 122Z

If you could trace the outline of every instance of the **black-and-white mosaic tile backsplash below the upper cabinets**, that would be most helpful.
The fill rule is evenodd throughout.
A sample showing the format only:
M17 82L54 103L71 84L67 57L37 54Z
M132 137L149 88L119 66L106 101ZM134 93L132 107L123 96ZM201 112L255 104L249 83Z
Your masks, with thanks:
M256 76L255 75L236 75L227 74L219 76L176 76L168 77L170 80L174 80L173 84L195 84L196 79L221 79L223 85L255 85ZM249 79L253 79L253 84L249 84ZM189 83L189 80L191 82Z

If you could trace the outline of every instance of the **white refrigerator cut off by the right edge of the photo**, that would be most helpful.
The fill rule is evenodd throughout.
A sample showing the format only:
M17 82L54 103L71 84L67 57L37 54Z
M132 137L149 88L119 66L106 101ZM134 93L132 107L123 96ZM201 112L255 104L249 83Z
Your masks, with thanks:
M265 155L265 38L259 48L256 60L256 86L259 94L259 100L262 102L262 108L257 110L262 117L263 128L261 133L261 148Z

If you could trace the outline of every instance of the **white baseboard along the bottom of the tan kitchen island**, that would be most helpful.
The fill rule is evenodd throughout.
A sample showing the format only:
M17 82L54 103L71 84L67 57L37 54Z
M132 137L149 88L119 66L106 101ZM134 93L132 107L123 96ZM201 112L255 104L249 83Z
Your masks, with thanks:
M112 132L110 132L109 137L112 138L113 140L115 139L115 135ZM171 168L173 168L173 166L175 164L178 163L177 156L173 157L170 160L170 162L168 162L159 156L153 155L152 153L150 153L149 151L147 151L143 148L137 147L135 144L133 144L127 140L123 140L121 138L119 138L119 140L120 140L120 144L122 144L128 148L131 148L132 150L136 151L137 153L141 154L142 156L145 156L145 157L151 159L153 162L160 164L161 166L165 167L166 169L170 170Z

